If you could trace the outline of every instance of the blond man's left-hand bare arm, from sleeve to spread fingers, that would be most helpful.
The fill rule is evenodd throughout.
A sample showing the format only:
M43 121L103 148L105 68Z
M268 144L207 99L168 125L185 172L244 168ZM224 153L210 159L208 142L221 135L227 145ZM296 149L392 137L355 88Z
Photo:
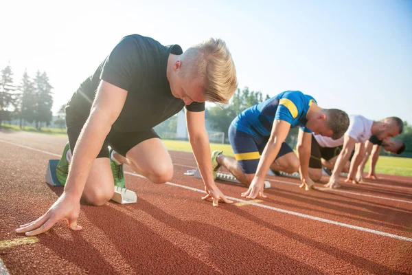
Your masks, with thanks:
M41 234L52 228L61 219L66 219L72 230L82 229L77 224L80 212L80 197L93 160L102 148L104 139L112 124L122 111L126 96L126 90L104 81L100 83L97 96L91 107L91 113L83 126L73 152L65 192L43 216L36 219L36 221L21 225L16 232L25 233L27 236Z

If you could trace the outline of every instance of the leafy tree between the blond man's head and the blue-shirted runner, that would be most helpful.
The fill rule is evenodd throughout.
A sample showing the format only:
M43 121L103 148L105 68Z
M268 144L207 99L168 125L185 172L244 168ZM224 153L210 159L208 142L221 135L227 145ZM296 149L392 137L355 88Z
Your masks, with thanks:
M244 87L242 90L237 89L226 107L220 108L216 106L208 108L207 119L216 131L225 132L225 136L227 136L227 130L232 120L236 118L239 113L269 98L270 97L266 95L266 98L263 99L262 92L250 91L248 87Z

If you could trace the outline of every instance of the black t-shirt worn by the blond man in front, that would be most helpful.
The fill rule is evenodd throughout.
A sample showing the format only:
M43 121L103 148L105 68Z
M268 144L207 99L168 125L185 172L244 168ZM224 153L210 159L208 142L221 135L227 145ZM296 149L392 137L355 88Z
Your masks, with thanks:
M163 46L150 37L124 37L96 72L73 94L67 107L87 118L100 80L128 91L122 112L113 128L117 131L147 131L179 113L185 106L175 98L166 77L169 54L182 54L179 45ZM204 111L205 102L193 102L189 111Z

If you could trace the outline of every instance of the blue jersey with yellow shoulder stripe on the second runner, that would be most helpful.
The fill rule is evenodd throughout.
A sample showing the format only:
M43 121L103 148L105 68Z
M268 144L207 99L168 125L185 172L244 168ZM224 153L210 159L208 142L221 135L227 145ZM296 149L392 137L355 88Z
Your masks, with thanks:
M277 96L256 104L242 111L232 122L239 131L250 133L255 137L268 137L271 135L273 121L284 120L291 126L301 126L307 133L312 133L306 128L306 113L312 102L312 96L301 91L284 91Z

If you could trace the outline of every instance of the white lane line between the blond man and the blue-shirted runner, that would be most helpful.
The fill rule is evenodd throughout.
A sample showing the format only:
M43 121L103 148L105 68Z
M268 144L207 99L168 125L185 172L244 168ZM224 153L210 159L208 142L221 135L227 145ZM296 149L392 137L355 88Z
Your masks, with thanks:
M133 175L135 177L145 178L144 176L136 174L136 173L130 173L130 172L125 172L125 173L128 174L128 175ZM201 189L198 189L198 188L193 188L193 187L190 187L190 186L184 186L184 185L181 185L181 184L174 184L172 182L166 182L165 184L168 184L170 186L176 186L176 187L179 187L179 188L185 188L185 189L192 190L192 191L195 191L195 192L201 192L201 193L204 193L204 194L206 193L205 190L201 190ZM323 219L323 218L319 218L319 217L314 217L314 216L311 216L311 215L308 215L308 214L301 214L299 212L284 210L284 209L276 208L276 207L273 207L273 206L266 206L264 204L255 203L253 201L247 201L247 200L244 200L244 199L238 199L238 198L235 198L235 197L227 197L227 198L231 199L232 201L247 203L248 205L258 206L258 207L266 208L266 209L273 210L273 211L276 211L276 212L292 214L294 216L305 218L305 219L311 219L313 221L321 221L323 223L330 223L330 224L334 224L334 225L339 225L339 226L342 226L344 228L351 228L351 229L354 229L354 230L369 232L369 233L380 235L380 236L388 236L389 238L393 238L393 239L412 242L412 239L407 238L406 236L398 236L398 235L390 234L390 233L387 233L387 232L382 232L382 231L373 230L373 229L369 229L369 228L363 228L361 226L356 226L356 225L347 224L347 223L340 223L339 221L332 221L330 219Z

